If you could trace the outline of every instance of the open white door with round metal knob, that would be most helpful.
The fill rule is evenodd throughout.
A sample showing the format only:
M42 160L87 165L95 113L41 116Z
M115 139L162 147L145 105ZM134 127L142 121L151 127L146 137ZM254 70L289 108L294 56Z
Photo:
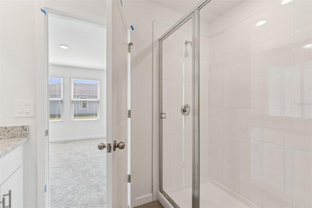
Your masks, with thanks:
M120 0L107 1L107 207L130 203L130 34ZM128 36L129 34L129 36ZM127 61L128 59L128 61ZM125 147L114 151L114 141ZM122 148L122 145L119 147ZM128 156L127 156L128 155ZM127 168L128 167L128 168ZM127 191L128 190L128 191Z

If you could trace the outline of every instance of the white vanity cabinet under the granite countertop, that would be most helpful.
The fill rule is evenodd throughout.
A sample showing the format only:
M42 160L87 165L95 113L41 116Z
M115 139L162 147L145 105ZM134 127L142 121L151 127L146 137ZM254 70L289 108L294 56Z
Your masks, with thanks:
M0 158L0 201L11 190L10 196L5 197L5 206L10 208L23 207L23 148L19 146ZM2 208L2 204L0 204Z

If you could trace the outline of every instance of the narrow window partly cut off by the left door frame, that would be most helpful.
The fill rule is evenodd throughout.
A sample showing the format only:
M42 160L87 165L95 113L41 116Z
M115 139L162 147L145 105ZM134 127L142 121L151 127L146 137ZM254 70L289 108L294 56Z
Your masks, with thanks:
M63 120L63 79L49 77L49 118L50 121Z

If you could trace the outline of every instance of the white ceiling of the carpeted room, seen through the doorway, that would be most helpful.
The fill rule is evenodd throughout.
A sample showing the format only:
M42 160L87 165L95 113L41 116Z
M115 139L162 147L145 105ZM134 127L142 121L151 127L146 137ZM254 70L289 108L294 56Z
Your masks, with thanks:
M68 49L60 48L68 45ZM49 16L49 63L79 68L106 68L104 25L69 17Z

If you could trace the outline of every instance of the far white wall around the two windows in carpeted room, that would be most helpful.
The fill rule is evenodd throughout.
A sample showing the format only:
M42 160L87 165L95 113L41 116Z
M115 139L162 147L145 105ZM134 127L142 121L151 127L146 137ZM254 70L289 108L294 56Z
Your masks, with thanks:
M50 77L63 78L63 121L50 122L50 141L65 141L106 136L106 71L49 66ZM100 119L90 121L71 120L71 79L98 80L100 84Z

